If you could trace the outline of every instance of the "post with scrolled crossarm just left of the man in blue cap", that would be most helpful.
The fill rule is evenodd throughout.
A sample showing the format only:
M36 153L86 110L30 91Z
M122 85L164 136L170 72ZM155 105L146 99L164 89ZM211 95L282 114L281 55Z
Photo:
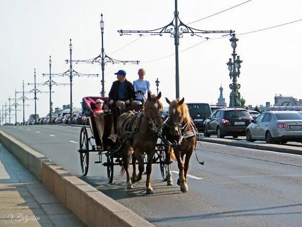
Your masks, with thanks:
M126 64L126 63L131 63L131 64L138 64L140 61L129 61L129 60L117 60L117 59L113 59L108 57L105 54L104 51L104 21L103 21L103 14L101 14L101 22L100 22L100 27L101 27L101 37L102 37L102 48L101 48L101 54L95 58L92 59L88 59L88 60L71 60L71 62L77 62L77 63L90 63L90 64L94 64L95 62L98 62L101 64L102 66L102 80L101 80L101 84L102 84L102 90L101 90L101 96L105 97L105 76L104 76L104 71L105 71L105 65L107 62L109 63L122 63L122 64ZM69 60L65 60L66 63L68 63Z

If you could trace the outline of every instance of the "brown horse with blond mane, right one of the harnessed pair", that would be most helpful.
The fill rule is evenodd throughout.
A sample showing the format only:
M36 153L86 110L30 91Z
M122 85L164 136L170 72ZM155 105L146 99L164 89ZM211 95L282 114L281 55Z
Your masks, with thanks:
M163 132L167 140L173 144L172 146L165 147L166 162L169 163L167 185L173 185L170 156L173 157L175 155L179 169L177 184L180 186L182 192L187 192L187 173L190 158L196 145L197 130L190 118L189 109L187 104L184 103L184 98L181 100L175 99L172 102L166 98L166 101L169 104L169 116L164 121ZM183 165L184 155L185 162Z

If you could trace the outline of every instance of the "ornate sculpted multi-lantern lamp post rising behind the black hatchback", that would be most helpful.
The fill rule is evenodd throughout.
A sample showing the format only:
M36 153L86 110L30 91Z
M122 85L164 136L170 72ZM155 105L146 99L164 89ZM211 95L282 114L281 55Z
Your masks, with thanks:
M229 84L229 88L231 89L231 93L229 95L229 107L243 107L245 100L240 98L240 92L238 91L240 88L240 84L237 83L237 77L240 75L240 68L242 60L240 60L240 56L237 56L236 47L237 41L239 39L236 38L235 34L229 39L231 42L231 47L233 48L233 61L229 58L227 64L227 69L229 70L229 78L233 78L233 83ZM237 56L237 58L236 58Z

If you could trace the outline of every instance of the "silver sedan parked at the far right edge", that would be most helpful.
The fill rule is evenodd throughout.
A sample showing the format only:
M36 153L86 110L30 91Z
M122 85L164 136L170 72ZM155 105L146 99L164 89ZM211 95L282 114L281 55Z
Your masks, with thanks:
M266 143L302 143L302 115L297 111L263 112L246 129L246 140Z

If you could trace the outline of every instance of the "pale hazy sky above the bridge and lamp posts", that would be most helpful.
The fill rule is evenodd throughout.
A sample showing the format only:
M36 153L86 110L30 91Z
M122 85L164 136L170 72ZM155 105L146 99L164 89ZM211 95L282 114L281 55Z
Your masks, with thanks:
M178 12L182 22L189 24L246 1L178 0ZM169 34L144 35L139 38L137 35L120 36L117 32L120 29L153 30L168 25L174 17L174 0L0 0L0 3L0 109L5 102L8 103L9 96L14 98L15 88L17 91L22 90L23 79L26 83L25 90L33 89L33 86L28 86L27 83L34 82L34 68L38 83L48 80L41 74L49 73L50 55L52 73L62 73L69 69L64 60L69 59L70 38L73 44L73 59L97 57L101 53L101 13L105 23L105 53L114 59L141 61L138 65L107 64L106 94L112 82L116 80L114 72L125 70L126 78L133 82L138 78L137 70L143 67L146 70L145 78L150 81L153 93L156 93L155 80L158 78L159 90L163 97L170 100L175 98L174 39ZM236 30L239 38L236 50L243 60L238 79L241 95L246 104L264 105L266 101L273 104L275 94L302 99L299 70L302 60L302 21L264 31L239 34L300 20L301 10L302 3L298 0L252 0L189 26L201 30ZM210 38L221 37L221 34L201 35ZM180 38L180 98L184 97L187 102L216 104L222 84L224 98L227 104L229 103L228 85L231 80L226 62L233 49L228 39L229 36L202 42L205 39L189 34ZM166 57L169 55L171 56ZM74 64L73 68L79 73L101 75L99 64ZM54 77L53 80L60 83L69 82L68 77ZM83 97L100 94L101 77L75 77L73 81L74 107L80 107ZM49 90L48 86L38 88ZM69 86L53 86L53 90L54 107L69 103ZM17 94L17 98L21 96ZM33 94L25 96L33 98ZM49 112L49 94L38 94L37 97L37 113L45 116ZM164 100L161 101L164 103ZM21 100L18 100L18 103L22 104ZM29 104L25 108L25 118L28 119L30 113L34 112L34 100L26 103ZM14 112L11 114L14 116ZM17 115L17 120L21 121L22 111L18 111Z

